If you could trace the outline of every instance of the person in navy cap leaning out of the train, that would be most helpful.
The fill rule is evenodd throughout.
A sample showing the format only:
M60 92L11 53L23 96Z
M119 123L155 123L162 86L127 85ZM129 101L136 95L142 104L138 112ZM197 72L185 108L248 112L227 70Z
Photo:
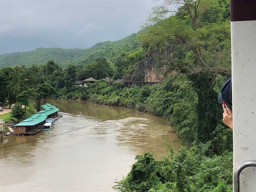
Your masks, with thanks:
M218 96L219 103L223 107L223 123L233 129L233 114L232 114L232 78L225 81L220 95Z

